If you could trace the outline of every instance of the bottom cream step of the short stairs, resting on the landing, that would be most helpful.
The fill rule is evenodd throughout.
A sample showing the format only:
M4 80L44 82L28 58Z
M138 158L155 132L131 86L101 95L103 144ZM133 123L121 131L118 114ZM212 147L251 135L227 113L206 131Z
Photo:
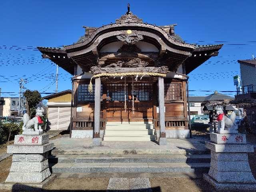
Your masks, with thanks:
M104 135L104 141L155 141L154 135Z

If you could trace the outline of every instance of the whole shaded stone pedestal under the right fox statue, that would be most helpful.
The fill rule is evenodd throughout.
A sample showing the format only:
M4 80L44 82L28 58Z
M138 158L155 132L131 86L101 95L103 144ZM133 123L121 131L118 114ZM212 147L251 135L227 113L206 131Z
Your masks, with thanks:
M206 148L211 150L211 166L204 179L217 191L255 191L247 154L254 152L254 147L247 144L245 134L219 131L211 133L210 139Z

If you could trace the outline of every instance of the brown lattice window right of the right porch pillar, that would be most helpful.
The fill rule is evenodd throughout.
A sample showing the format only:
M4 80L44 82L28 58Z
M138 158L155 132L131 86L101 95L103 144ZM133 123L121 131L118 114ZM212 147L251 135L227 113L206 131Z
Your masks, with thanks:
M165 83L164 100L183 100L182 82Z

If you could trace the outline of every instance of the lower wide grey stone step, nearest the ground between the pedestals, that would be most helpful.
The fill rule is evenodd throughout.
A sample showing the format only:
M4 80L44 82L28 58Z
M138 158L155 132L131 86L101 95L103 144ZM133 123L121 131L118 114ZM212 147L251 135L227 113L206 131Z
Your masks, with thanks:
M209 169L210 163L57 163L52 173L166 173L197 172Z

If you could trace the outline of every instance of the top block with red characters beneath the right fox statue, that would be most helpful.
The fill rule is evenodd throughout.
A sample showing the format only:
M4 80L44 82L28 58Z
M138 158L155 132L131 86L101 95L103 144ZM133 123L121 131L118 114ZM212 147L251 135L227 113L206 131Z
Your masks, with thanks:
M210 133L210 138L216 144L246 144L245 134Z

